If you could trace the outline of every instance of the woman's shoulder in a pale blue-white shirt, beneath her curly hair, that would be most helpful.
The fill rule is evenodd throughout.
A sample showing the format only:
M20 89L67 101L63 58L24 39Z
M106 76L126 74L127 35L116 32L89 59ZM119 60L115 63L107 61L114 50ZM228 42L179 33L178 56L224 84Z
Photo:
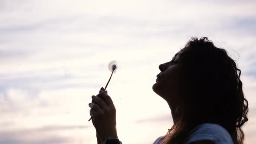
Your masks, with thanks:
M204 123L190 131L187 143L210 140L215 144L233 144L233 140L225 128L219 124Z

